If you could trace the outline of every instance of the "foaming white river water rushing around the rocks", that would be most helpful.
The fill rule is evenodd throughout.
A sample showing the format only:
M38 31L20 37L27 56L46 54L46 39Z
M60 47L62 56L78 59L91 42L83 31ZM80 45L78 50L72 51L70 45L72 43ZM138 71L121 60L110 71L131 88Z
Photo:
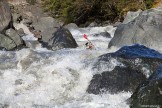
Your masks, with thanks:
M49 51L41 48L0 51L0 107L10 108L129 108L125 100L131 93L88 94L86 89L95 74L96 58L108 50L110 38L93 36L115 28L71 29L79 47ZM96 50L86 50L83 34ZM115 65L115 64L114 64Z

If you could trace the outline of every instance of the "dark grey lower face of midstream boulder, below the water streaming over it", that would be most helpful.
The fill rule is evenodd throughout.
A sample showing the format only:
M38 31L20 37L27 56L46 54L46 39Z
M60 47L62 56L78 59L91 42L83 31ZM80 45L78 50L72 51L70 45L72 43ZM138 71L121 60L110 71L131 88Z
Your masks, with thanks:
M138 70L116 66L112 71L94 75L87 92L99 94L105 91L111 93L134 91L145 79L145 75Z

